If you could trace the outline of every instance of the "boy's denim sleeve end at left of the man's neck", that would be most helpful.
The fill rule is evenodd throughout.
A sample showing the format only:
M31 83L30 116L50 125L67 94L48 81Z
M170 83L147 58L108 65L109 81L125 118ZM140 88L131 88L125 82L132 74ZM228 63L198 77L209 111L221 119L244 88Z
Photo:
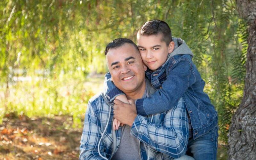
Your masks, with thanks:
M119 90L111 81L111 75L109 72L105 75L103 91L104 96L109 100L109 102L113 102L118 95L124 94L124 92Z

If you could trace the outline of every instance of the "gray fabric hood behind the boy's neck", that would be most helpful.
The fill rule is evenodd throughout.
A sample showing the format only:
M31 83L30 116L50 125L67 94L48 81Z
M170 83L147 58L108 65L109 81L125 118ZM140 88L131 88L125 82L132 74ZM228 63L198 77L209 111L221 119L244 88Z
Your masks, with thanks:
M194 56L184 40L182 40L181 38L172 37L172 41L174 42L174 50L171 54L168 55L168 59L170 59L174 55L189 54L192 57Z

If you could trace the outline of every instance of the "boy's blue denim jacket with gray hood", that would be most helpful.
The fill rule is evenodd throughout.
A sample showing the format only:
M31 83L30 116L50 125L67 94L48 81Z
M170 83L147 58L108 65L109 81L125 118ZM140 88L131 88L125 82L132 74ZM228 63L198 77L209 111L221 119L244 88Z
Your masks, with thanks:
M173 38L174 51L166 62L153 71L148 69L146 76L157 91L149 98L136 100L137 113L145 116L169 110L182 97L190 116L193 138L210 131L218 124L214 106L204 93L204 80L192 62L193 53L185 41ZM105 96L113 101L123 94L111 82L110 74L105 75Z

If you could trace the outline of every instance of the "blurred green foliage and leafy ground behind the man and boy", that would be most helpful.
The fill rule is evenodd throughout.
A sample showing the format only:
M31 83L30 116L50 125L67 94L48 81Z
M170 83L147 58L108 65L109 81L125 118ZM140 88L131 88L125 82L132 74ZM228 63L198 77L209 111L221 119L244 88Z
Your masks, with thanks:
M219 114L219 155L244 89L247 25L233 0L1 0L0 159L77 159L115 38L151 19L186 41Z

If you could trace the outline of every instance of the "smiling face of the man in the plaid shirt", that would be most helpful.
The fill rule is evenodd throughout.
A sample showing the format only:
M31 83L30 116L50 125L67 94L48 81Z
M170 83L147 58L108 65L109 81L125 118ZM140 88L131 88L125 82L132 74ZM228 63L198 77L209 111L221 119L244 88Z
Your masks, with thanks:
M145 82L147 67L132 44L110 49L107 54L108 69L117 88L125 94L138 92Z

